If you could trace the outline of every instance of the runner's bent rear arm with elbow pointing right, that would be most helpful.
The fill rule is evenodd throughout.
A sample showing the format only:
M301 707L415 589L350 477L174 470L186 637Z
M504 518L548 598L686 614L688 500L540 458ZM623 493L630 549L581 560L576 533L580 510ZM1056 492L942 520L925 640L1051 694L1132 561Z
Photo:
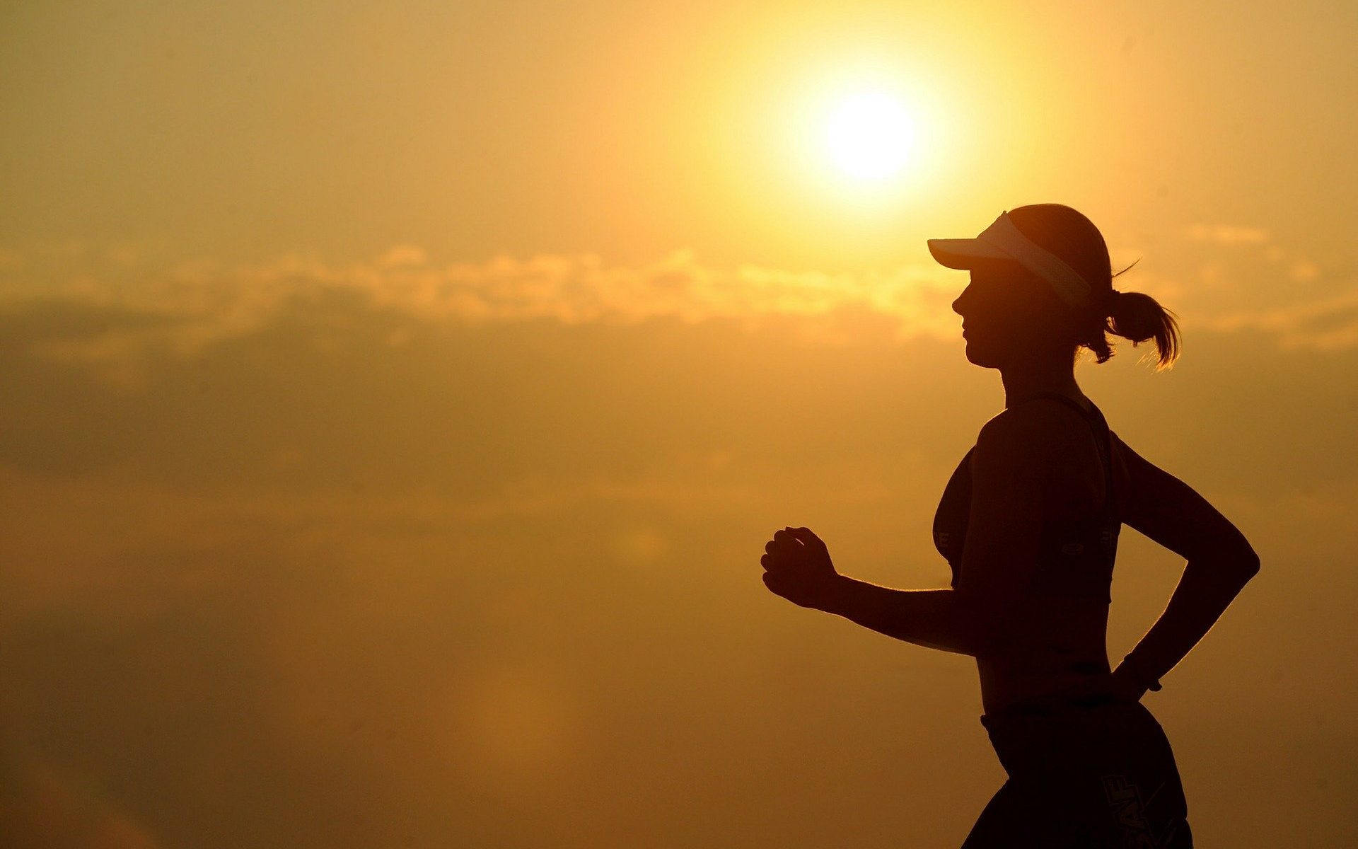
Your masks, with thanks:
M1188 561L1169 604L1116 672L1152 683L1175 668L1221 618L1259 572L1259 556L1191 486L1126 444L1119 448L1127 469L1122 520Z

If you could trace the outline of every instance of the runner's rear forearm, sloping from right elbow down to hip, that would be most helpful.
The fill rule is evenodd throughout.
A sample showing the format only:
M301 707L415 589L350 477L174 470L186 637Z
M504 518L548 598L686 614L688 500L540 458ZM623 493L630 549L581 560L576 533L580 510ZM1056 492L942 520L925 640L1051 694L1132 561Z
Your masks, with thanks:
M1259 569L1258 561L1237 562L1190 561L1184 566L1165 611L1128 653L1142 679L1158 681L1175 668Z

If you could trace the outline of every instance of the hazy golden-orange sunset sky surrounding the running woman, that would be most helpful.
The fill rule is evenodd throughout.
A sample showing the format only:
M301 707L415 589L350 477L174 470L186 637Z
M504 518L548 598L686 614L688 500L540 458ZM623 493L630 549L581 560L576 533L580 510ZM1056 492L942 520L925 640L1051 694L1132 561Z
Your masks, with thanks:
M1061 202L1184 334L1084 391L1262 558L1145 700L1194 833L1354 845L1355 37L1308 1L5 4L0 834L959 845L1004 780L974 663L758 561L808 526L947 585L933 511L1004 394L925 240ZM827 141L865 91L904 117L869 177ZM1114 662L1181 569L1124 528Z

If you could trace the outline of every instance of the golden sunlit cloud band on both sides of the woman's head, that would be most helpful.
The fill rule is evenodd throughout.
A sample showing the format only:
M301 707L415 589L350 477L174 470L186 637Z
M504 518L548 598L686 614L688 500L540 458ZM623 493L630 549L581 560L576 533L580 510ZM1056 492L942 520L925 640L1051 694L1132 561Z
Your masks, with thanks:
M1343 299L1332 281L1304 257L1290 257L1256 227L1195 224L1186 231L1195 253L1161 257L1181 272L1137 268L1120 277L1123 289L1164 300L1188 323L1217 329L1263 329L1279 344L1327 349L1354 345L1358 331L1306 329ZM1268 266L1238 257L1233 246L1264 246ZM1119 257L1126 251L1115 251ZM1289 257L1286 268L1272 269ZM792 319L800 341L846 344L857 327L845 315L881 317L896 341L956 340L951 304L964 274L928 264L823 272L755 264L718 268L689 249L655 262L608 265L599 254L497 255L479 262L433 262L416 245L395 245L360 262L327 262L289 254L268 262L228 265L210 258L174 261L118 245L62 246L0 262L0 310L34 300L77 303L139 315L139 321L56 330L30 340L31 349L57 363L98 371L128 393L144 389L152 357L193 359L208 346L258 333L277 322L285 304L334 296L356 297L416 322L486 326L551 321L627 326L656 318L686 323L732 321L747 329ZM1150 264L1145 264L1150 265ZM1285 276L1290 287L1279 287ZM1168 299L1168 300L1165 300ZM1241 311L1238 304L1253 304ZM1187 307L1187 308L1184 308ZM1305 325L1305 327L1304 327ZM337 329L342 331L342 329ZM406 344L394 329L390 345ZM323 342L318 342L323 344Z

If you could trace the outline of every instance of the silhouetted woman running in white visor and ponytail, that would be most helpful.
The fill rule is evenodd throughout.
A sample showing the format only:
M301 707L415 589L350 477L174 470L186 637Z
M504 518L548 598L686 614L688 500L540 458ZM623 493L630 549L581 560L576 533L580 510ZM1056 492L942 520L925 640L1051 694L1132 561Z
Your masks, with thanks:
M765 546L763 581L803 607L928 648L971 655L980 717L1008 773L963 849L1192 845L1173 753L1141 704L1259 571L1241 532L1108 429L1074 379L1107 333L1179 353L1172 314L1112 288L1108 249L1080 212L1036 204L975 239L930 239L966 269L953 302L967 360L999 369L1005 409L944 489L934 545L948 590L892 590L839 575L811 530ZM1126 269L1123 269L1126 270ZM1119 272L1120 273L1120 272ZM1187 560L1168 606L1112 670L1105 645L1118 532Z

